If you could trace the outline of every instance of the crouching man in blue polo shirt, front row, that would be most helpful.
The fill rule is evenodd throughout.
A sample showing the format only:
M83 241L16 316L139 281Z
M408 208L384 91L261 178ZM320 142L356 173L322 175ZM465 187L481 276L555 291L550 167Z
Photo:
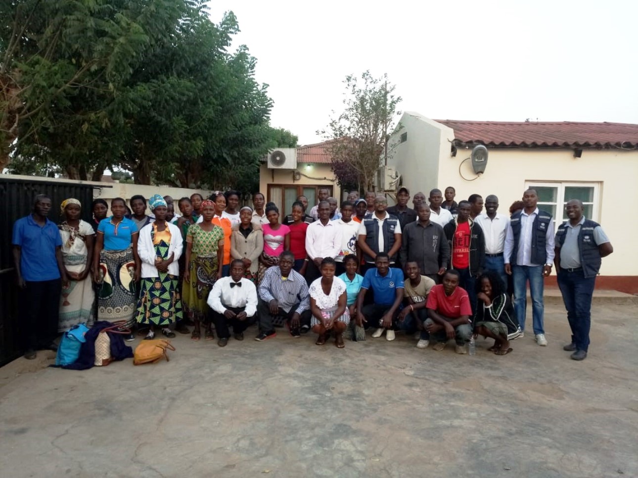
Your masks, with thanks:
M373 324L378 327L372 334L377 338L387 330L385 338L394 340L394 324L403 300L403 271L390 267L390 256L387 252L379 252L375 257L374 269L366 271L357 296L357 325ZM375 303L364 307L363 301L367 289L372 289Z

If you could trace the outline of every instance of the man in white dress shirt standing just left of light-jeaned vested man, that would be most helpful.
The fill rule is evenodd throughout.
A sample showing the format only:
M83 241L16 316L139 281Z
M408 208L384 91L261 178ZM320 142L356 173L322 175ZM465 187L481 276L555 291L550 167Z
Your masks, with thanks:
M505 261L503 250L505 249L505 236L510 226L510 218L496 212L498 210L498 198L490 194L485 198L485 211L477 215L475 222L483 229L485 236L485 270L493 270L501 278L507 287L507 274L505 274Z

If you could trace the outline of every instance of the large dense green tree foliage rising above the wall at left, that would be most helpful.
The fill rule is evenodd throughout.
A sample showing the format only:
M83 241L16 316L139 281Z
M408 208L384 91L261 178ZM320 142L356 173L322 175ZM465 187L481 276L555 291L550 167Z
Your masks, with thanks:
M252 189L272 142L272 101L248 48L228 52L235 15L214 24L205 3L12 3L11 31L0 27L11 65L0 78L17 92L3 89L13 104L0 103L0 114L17 126L0 144L72 178L117 167L137 184ZM23 30L33 40L9 52Z

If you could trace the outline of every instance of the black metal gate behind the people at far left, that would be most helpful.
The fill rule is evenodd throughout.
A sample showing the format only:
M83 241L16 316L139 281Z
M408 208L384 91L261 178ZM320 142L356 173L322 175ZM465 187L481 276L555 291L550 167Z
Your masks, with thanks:
M0 175L0 366L24 352L20 328L20 291L16 286L11 245L13 223L31 213L37 194L51 197L52 208L48 219L56 224L60 221L59 205L67 198L78 199L82 203L82 219L91 221L93 187L72 181L28 180Z

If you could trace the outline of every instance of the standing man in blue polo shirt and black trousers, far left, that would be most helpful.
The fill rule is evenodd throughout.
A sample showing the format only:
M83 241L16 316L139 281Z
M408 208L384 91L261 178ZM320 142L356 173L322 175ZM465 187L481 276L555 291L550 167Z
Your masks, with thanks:
M47 219L51 198L36 196L33 213L13 225L13 263L24 305L24 358L36 358L36 350L56 350L61 287L68 287L62 257L62 238L56 224Z

